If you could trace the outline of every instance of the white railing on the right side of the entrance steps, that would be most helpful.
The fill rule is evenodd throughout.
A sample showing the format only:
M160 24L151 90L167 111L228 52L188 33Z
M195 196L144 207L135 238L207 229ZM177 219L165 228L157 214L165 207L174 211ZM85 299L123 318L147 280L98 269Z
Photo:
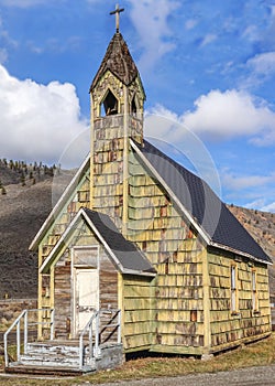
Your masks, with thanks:
M111 315L108 322L100 325L100 317ZM117 322L116 322L117 320ZM85 335L88 334L88 344L89 344L89 356L87 357L87 364L89 365L92 358L98 358L100 356L100 343L101 343L101 334L107 329L112 329L112 332L118 331L117 343L121 343L121 311L112 310L112 309L101 309L99 311L94 311L92 317L89 322L84 328L82 332L79 335L79 368L81 369L85 366L85 345L84 340ZM95 336L94 336L95 335ZM95 337L95 340L94 340Z

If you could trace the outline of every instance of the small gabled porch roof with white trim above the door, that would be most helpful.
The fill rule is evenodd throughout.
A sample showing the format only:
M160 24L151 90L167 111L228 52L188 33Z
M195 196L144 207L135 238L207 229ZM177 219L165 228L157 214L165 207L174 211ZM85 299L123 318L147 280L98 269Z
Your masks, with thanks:
M67 229L43 262L40 268L41 272L48 270L52 261L56 258L56 255L72 235L72 232L77 229L79 221L84 221L91 228L120 272L155 276L156 271L145 255L138 249L133 243L127 240L122 236L108 215L90 211L86 207L78 211L73 222L68 225Z

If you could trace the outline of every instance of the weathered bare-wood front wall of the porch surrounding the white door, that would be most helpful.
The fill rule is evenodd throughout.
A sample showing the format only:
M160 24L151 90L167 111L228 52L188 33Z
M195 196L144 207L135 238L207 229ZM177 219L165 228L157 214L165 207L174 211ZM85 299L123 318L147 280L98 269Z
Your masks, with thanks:
M95 247L97 245L99 246L99 308L118 309L118 271L91 230L87 226L78 224L67 240L67 246L64 246L59 256L56 256L51 275L42 275L42 299L46 308L55 308L55 337L57 339L69 339L73 334L74 279L69 246ZM50 322L50 312L44 313L42 318L44 322ZM101 323L105 323L109 318L109 312L103 313ZM43 328L43 331L40 331L40 336L48 337L48 326ZM109 332L110 330L106 331L101 337L105 339Z

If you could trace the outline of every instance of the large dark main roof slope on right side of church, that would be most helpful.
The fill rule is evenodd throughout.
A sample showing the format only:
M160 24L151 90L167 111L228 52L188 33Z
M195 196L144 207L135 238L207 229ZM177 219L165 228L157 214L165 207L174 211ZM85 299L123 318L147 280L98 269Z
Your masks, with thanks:
M194 221L207 233L212 244L248 254L265 262L271 258L239 223L210 186L196 174L144 140L135 143L162 176Z

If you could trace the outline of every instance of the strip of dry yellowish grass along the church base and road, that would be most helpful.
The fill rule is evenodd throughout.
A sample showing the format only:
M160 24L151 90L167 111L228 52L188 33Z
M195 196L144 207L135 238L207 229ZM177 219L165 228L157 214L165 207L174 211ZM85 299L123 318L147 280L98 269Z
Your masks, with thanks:
M103 384L107 382L144 379L148 377L179 376L195 373L217 373L251 366L275 364L275 333L268 339L253 343L243 349L220 354L210 361L185 357L147 357L129 361L118 369L99 372L85 377L72 379L40 380L26 378L1 378L2 385L79 385L85 382Z

